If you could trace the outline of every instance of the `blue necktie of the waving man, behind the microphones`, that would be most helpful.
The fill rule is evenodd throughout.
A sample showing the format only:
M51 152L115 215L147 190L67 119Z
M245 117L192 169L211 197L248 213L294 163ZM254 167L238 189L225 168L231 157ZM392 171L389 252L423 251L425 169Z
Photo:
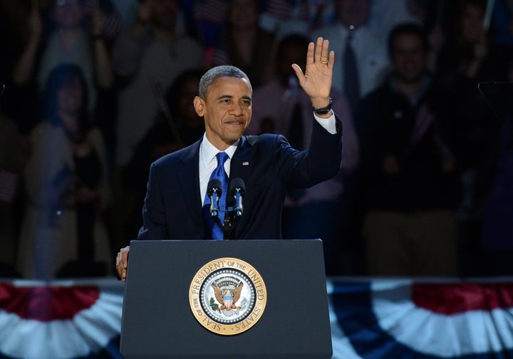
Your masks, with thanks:
M224 211L226 209L226 195L228 192L228 175L226 171L224 171L224 162L228 160L228 155L226 152L218 152L216 155L217 158L217 167L215 168L212 175L210 175L210 180L217 179L221 181L222 185L222 194L219 198L219 219L221 223L224 223ZM206 239L224 239L223 231L219 226L214 222L212 216L210 215L210 197L207 193L205 193L205 199L203 202L203 215L204 221L207 224L206 231ZM210 237L209 237L210 236Z

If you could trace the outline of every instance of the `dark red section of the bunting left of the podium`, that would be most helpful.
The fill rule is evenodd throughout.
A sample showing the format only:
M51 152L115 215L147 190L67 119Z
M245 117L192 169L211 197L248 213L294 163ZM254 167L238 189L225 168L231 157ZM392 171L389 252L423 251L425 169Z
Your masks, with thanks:
M72 319L76 313L93 306L99 296L95 286L17 287L0 283L0 308L36 321Z

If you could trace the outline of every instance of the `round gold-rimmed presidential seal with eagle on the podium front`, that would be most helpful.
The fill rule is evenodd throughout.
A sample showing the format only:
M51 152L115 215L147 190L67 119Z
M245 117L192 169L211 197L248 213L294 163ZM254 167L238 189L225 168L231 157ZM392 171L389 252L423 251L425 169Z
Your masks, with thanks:
M236 258L214 259L192 279L189 302L197 321L212 333L235 335L264 313L267 292L259 272Z

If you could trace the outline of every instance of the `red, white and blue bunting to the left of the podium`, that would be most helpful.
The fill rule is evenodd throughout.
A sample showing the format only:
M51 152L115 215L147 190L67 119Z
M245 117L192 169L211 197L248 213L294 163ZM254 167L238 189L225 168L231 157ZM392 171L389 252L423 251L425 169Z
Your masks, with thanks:
M112 281L3 282L0 308L0 358L122 358L123 290Z

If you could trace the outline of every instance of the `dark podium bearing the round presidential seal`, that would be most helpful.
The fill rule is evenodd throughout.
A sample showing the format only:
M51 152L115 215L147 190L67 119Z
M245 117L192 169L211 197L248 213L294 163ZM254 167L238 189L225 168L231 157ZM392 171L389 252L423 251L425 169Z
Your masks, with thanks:
M230 293L211 295L218 287ZM132 241L120 350L125 359L331 358L322 241Z

